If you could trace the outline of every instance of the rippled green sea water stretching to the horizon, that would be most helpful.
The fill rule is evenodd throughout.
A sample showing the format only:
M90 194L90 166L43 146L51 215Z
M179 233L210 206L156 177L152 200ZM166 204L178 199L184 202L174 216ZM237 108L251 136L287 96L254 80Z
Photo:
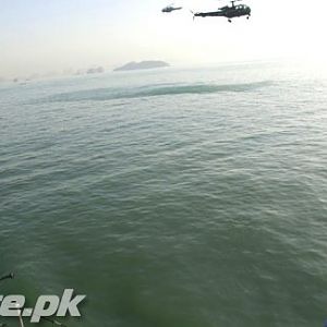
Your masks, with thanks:
M326 105L277 62L1 84L0 293L73 288L72 327L323 327Z

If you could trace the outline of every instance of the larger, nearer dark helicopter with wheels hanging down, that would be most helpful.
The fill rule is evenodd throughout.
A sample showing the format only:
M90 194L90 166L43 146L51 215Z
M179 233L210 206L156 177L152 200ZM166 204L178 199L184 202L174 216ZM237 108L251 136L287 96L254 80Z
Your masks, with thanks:
M231 5L225 5L218 9L218 11L213 12L196 12L193 13L194 17L227 17L228 21L231 23L231 20L234 17L246 16L249 20L251 16L251 8L246 4L237 4L235 2L242 0L232 0Z

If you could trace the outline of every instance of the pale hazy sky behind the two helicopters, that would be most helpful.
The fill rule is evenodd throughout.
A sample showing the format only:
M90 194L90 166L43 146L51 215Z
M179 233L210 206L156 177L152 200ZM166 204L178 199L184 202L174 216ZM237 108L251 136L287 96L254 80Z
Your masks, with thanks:
M217 0L0 0L0 76L13 77L126 61L166 60L207 65L300 57L327 58L325 0L245 0L252 17L192 20L189 9L215 10Z

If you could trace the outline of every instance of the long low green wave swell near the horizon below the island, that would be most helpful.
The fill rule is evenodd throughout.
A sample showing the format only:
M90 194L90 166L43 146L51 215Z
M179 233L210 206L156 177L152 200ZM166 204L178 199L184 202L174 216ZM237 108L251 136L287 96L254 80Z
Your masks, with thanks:
M50 102L105 101L112 99L131 99L155 96L215 94L252 92L271 85L270 81L242 84L192 84L192 85L150 85L137 88L95 88L52 95L46 98Z

